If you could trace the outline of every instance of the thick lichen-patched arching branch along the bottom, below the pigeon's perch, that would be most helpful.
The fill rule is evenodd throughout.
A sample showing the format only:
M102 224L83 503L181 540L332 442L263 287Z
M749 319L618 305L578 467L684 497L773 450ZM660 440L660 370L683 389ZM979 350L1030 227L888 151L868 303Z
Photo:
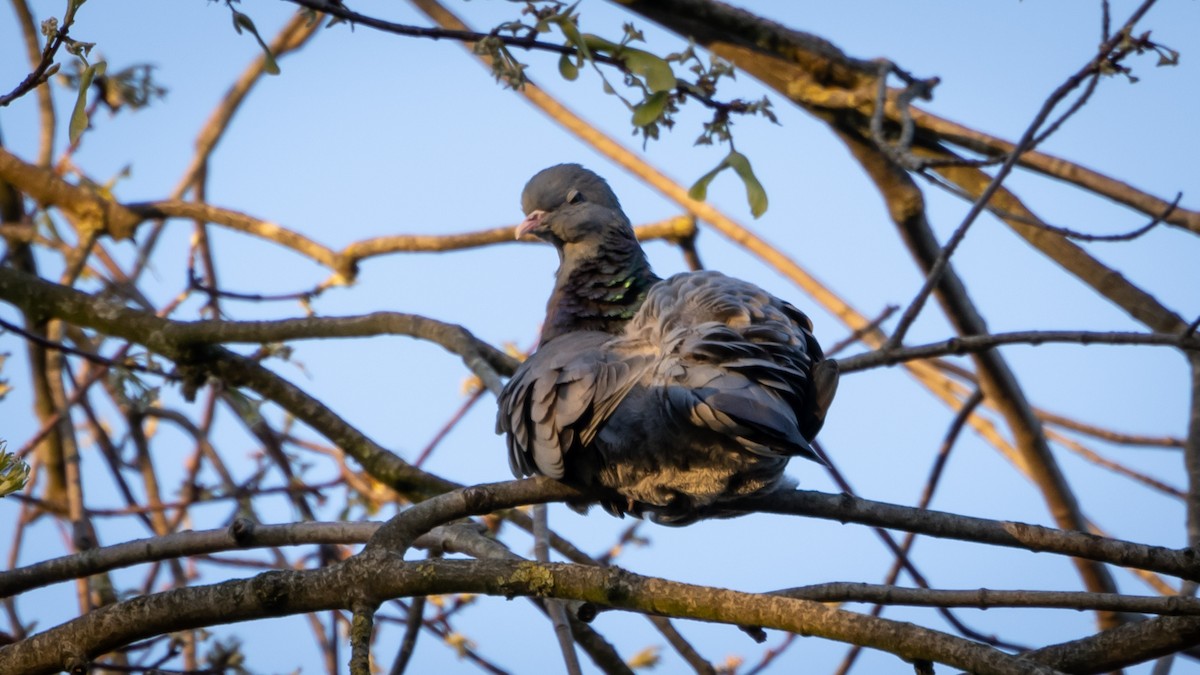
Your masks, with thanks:
M877 647L905 659L948 663L979 674L1052 674L1044 665L911 623L821 603L743 593L642 577L616 567L526 561L404 562L359 555L313 571L268 572L252 579L176 589L100 608L29 639L0 647L0 673L56 673L100 653L175 631L332 609L360 598L486 593L574 599L656 614L762 626Z

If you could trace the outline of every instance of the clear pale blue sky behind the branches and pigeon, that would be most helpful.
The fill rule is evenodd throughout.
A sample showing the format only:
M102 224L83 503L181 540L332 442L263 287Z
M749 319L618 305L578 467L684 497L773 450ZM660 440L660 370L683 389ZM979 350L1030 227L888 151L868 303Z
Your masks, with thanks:
M1090 58L1099 41L1098 4L1048 1L923 2L745 2L751 11L788 26L821 35L859 58L887 56L918 76L942 83L924 107L938 115L1013 139L1024 131L1042 101ZM1114 2L1120 23L1134 4ZM356 11L400 23L425 24L407 5L356 2ZM476 28L487 28L515 12L508 2L476 0L452 5ZM294 11L287 2L245 1L264 35L271 35ZM34 2L41 18L60 11L59 4ZM584 0L580 10L586 30L618 35L631 20L610 4ZM28 66L19 48L16 22L0 13L0 89L24 77ZM650 48L670 52L682 42L644 28ZM1200 4L1162 2L1142 23L1153 38L1182 52L1178 67L1156 68L1153 56L1134 59L1136 84L1121 77L1105 79L1093 100L1043 149L1100 171L1160 197L1183 191L1183 204L1196 208L1200 186L1200 133L1194 118L1200 92L1195 65L1195 30ZM155 77L169 89L166 101L151 108L110 117L101 112L85 137L76 162L94 179L104 180L128 166L131 175L116 187L122 201L167 196L187 162L197 131L211 108L258 47L236 35L223 5L203 0L120 4L89 2L80 10L72 35L97 43L110 68L132 62L156 65ZM600 91L594 76L563 82L554 59L528 55L532 77L572 109L650 163L686 185L707 172L724 149L692 147L703 113L680 115L664 139L640 150L629 136L629 113ZM538 169L577 161L607 177L631 220L648 222L678 214L678 208L612 166L568 132L548 123L520 96L492 83L461 47L382 35L366 28L323 30L302 52L281 61L283 73L256 88L211 161L209 201L299 231L331 247L398 233L452 233L500 225L521 217L518 196ZM766 91L742 76L727 95L757 98ZM71 96L56 88L62 110L58 149L66 144L65 120ZM920 285L882 202L845 148L826 126L770 94L780 126L760 119L738 120L738 149L754 162L770 197L767 214L752 220L740 184L722 175L709 198L727 214L750 225L767 240L797 259L865 315L888 304L906 304ZM36 149L36 110L31 97L0 110L5 144L23 157ZM1008 185L1048 221L1097 233L1123 232L1146 219L1105 201L1073 192L1033 175L1014 175ZM944 239L967 205L928 190L930 220ZM294 255L212 228L220 277L228 289L278 293L305 289L328 276ZM152 267L151 289L166 300L185 285L191 226L168 225ZM700 238L707 267L750 279L788 298L814 316L826 345L846 330L817 309L787 280L766 269L712 231ZM1200 313L1200 244L1193 234L1159 227L1132 244L1087 246L1102 261L1154 294L1186 317ZM130 259L133 247L114 244L114 253ZM656 270L683 269L677 251L650 244ZM47 258L44 264L55 264ZM461 323L492 344L532 344L548 294L556 257L548 247L506 245L450 255L403 255L373 258L362 265L358 283L325 293L314 303L322 315L377 310L415 312ZM1134 330L1134 324L1028 249L1007 227L984 216L973 227L954 264L992 330L1031 328ZM193 303L181 316L194 315ZM233 318L299 316L294 304L227 305ZM188 313L191 312L191 315ZM11 307L0 315L13 318ZM936 306L923 312L910 342L950 335ZM26 366L18 340L0 336L0 351L11 352L4 376L16 390L0 402L0 436L19 447L34 431ZM1182 435L1186 423L1186 370L1178 354L1166 350L1109 347L1014 347L1004 351L1034 405L1115 429ZM461 404L466 377L461 363L439 348L407 339L304 342L295 360L275 364L277 372L298 382L371 437L412 459ZM175 398L168 393L168 401ZM190 411L194 408L187 408ZM492 435L491 399L467 417L434 454L428 468L462 482L499 480L509 476L503 443ZM277 411L268 411L278 420ZM902 370L854 375L842 381L839 400L822 434L822 442L863 496L911 503L920 491L932 454L949 423L950 412ZM226 416L218 418L217 442L230 456L246 456L257 443ZM170 447L163 429L163 448ZM191 444L174 440L181 458ZM1177 453L1105 448L1164 480L1182 485ZM1182 507L1148 494L1128 480L1056 450L1073 477L1085 512L1116 536L1178 546L1184 543ZM89 455L84 456L85 466ZM168 464L169 466L169 464ZM246 460L242 476L252 471ZM166 470L170 473L170 470ZM802 485L833 490L818 467L796 462L790 470ZM109 495L107 473L88 473L89 503L118 503ZM95 500L92 502L91 500ZM270 502L264 518L294 518L283 502ZM946 488L935 508L1049 524L1043 502L1030 484L1002 458L967 434L952 459ZM0 542L10 542L16 504L0 502ZM331 512L331 513L336 513ZM227 507L197 510L193 527L217 527ZM330 518L332 515L329 515ZM602 513L586 518L554 509L556 526L584 549L600 552L628 521ZM878 581L890 560L874 534L862 527L824 521L751 516L701 524L685 530L646 526L652 544L632 549L620 563L636 572L678 580L743 590L769 590L829 580ZM35 530L22 561L60 555L62 538L47 522ZM101 539L115 543L143 532L118 522L101 524ZM512 538L518 552L526 540ZM922 539L917 562L942 587L1076 589L1069 563L1050 556L998 551L958 543ZM238 569L206 569L206 580ZM139 572L124 577L137 585ZM1118 575L1122 589L1145 592L1139 581ZM35 607L73 605L67 585L30 593L23 614L53 625L67 614ZM889 610L942 627L924 610ZM1070 639L1091 628L1087 615L962 613L982 629L1004 631L1016 641ZM661 644L638 617L605 615L599 629L610 634L625 655ZM521 602L481 601L461 619L460 628L482 653L514 671L530 671L552 655L551 633ZM685 634L702 645L704 656L720 662L738 653L754 663L761 649L728 627L685 623ZM319 671L316 652L305 655L307 625L300 619L238 626L230 631L263 639L289 640L275 653L254 650L251 667L289 671L302 667ZM300 633L296 633L300 632ZM395 639L395 634L391 635ZM773 633L768 646L781 635ZM250 641L250 639L247 639ZM302 643L296 645L295 643ZM394 641L386 641L394 645ZM382 653L390 655L391 646ZM802 640L784 657L794 670L830 670L842 653L838 645ZM680 663L664 649L662 671ZM427 644L414 671L473 671L449 650ZM895 659L870 656L862 671L899 671ZM1148 671L1133 670L1133 671ZM1176 673L1200 673L1184 662Z

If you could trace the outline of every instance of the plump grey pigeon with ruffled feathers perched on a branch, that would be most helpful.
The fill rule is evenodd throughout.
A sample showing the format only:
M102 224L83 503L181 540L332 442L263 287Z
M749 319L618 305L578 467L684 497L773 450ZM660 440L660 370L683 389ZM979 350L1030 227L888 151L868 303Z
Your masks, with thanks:
M779 489L838 387L812 322L719 271L659 279L608 184L580 165L535 174L532 234L558 251L536 351L499 396L516 477L580 489L608 513L686 525ZM575 504L578 506L578 504Z

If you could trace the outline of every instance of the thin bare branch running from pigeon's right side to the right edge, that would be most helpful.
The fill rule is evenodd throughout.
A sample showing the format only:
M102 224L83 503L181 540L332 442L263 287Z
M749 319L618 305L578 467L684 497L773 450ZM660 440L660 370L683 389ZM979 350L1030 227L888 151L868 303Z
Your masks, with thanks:
M1087 330L1020 330L996 333L991 335L968 335L950 338L941 342L904 347L896 350L876 350L838 359L841 372L868 370L883 365L895 365L911 360L931 359L946 356L962 356L985 352L1002 345L1142 345L1156 347L1175 347L1184 351L1200 351L1200 338L1174 333L1096 333Z

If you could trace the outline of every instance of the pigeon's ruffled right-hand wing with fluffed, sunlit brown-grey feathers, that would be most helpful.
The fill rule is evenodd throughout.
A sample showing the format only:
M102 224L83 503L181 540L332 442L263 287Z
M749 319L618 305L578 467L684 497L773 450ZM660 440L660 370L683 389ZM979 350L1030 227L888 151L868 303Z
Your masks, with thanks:
M836 389L803 312L715 271L658 283L626 334L656 345L648 388L672 425L713 431L763 455L820 461L809 442Z

